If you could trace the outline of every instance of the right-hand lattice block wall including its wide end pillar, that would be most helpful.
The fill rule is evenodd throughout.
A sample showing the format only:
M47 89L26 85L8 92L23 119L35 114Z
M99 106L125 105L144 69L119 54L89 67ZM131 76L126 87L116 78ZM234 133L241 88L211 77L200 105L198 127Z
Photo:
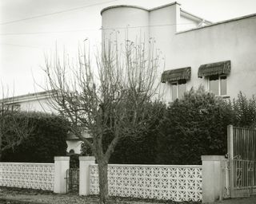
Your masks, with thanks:
M87 189L83 195L98 194L98 165L90 164L93 161L92 157L89 161L80 160L80 168L86 165L86 172L90 172L88 180L80 182L80 187L86 185ZM202 165L198 166L110 164L109 194L203 203L222 200L226 187L225 163L224 156L210 155L202 156Z

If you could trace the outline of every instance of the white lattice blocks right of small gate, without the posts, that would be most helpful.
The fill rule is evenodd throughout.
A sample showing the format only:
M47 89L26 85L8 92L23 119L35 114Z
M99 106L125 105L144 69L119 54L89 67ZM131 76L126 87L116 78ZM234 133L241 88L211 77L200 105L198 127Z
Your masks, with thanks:
M109 165L109 194L174 201L202 200L202 166ZM98 194L98 166L90 166L90 194Z

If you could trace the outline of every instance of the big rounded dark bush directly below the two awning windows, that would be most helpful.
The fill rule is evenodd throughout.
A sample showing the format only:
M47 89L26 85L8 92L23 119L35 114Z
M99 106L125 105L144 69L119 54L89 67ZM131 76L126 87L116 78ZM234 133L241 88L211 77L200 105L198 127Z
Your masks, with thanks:
M226 154L230 104L202 87L170 104L158 134L156 163L199 164L201 155Z

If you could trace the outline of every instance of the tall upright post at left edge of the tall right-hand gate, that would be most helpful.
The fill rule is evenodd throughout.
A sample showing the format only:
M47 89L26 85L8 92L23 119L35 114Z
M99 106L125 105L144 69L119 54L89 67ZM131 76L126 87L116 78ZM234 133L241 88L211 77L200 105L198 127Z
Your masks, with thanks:
M233 134L233 125L227 126L227 151L228 159L230 161L230 197L234 197L234 134Z

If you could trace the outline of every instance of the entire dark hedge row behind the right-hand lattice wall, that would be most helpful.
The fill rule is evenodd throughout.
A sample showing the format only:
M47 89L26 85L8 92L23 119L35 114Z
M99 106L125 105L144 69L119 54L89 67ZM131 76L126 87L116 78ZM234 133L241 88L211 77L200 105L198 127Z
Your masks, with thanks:
M201 155L226 155L227 125L256 126L256 99L248 100L242 92L231 103L201 87L167 109L154 105L161 112L158 120L140 137L122 139L110 163L200 164ZM111 134L104 135L105 151L111 139ZM91 155L87 147L83 152Z

